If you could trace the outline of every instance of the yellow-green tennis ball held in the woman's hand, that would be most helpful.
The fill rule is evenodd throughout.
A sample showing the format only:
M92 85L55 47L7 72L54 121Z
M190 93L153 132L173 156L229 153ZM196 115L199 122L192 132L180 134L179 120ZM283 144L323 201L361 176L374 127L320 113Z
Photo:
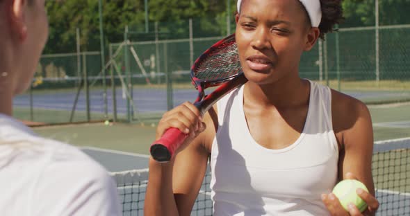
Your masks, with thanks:
M354 204L360 210L360 212L363 212L368 207L366 202L363 201L363 199L361 199L359 195L357 195L357 188L361 188L369 192L368 188L366 188L363 183L354 179L345 179L336 184L336 186L333 188L334 195L336 195L339 201L341 201L341 204L343 208L345 208L345 210L348 209L347 205L349 205L350 203Z

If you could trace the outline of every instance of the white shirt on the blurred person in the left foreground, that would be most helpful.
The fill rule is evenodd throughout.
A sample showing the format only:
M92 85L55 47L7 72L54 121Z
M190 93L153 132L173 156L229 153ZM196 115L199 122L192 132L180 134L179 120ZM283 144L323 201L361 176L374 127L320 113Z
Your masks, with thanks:
M76 147L0 114L0 215L121 215L113 179Z

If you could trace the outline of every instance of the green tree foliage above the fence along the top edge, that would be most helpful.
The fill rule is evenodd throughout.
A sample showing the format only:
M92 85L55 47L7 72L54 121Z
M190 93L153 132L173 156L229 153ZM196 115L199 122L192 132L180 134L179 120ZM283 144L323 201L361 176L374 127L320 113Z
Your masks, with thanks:
M105 44L121 42L124 28L130 26L134 37L145 34L144 0L101 0ZM227 1L229 0L148 0L150 39L154 22L159 22L160 37L188 36L188 19L194 19L194 37L226 35ZM231 28L236 0L230 0ZM99 50L99 0L47 1L49 42L45 53L76 51L76 28L81 30L81 50ZM379 25L410 24L407 10L410 0L379 0ZM345 22L340 27L374 26L375 0L343 1ZM147 38L147 37L146 37Z

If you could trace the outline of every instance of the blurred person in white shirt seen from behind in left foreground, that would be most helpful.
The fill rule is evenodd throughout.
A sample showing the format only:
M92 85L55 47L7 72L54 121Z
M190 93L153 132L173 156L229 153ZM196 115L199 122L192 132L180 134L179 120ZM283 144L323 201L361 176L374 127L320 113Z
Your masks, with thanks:
M120 215L104 168L12 117L47 42L45 0L0 0L0 214Z

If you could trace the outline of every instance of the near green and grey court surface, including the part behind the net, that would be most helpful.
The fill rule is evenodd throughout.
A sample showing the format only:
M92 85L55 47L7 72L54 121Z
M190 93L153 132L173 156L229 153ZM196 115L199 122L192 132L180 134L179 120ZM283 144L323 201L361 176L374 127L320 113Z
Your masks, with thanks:
M375 132L372 174L381 203L377 215L410 215L410 104L372 105L369 109ZM147 154L155 138L152 126L90 123L34 129L42 136L78 145L104 165L117 182L123 215L143 215ZM212 215L210 179L208 172L192 215Z

